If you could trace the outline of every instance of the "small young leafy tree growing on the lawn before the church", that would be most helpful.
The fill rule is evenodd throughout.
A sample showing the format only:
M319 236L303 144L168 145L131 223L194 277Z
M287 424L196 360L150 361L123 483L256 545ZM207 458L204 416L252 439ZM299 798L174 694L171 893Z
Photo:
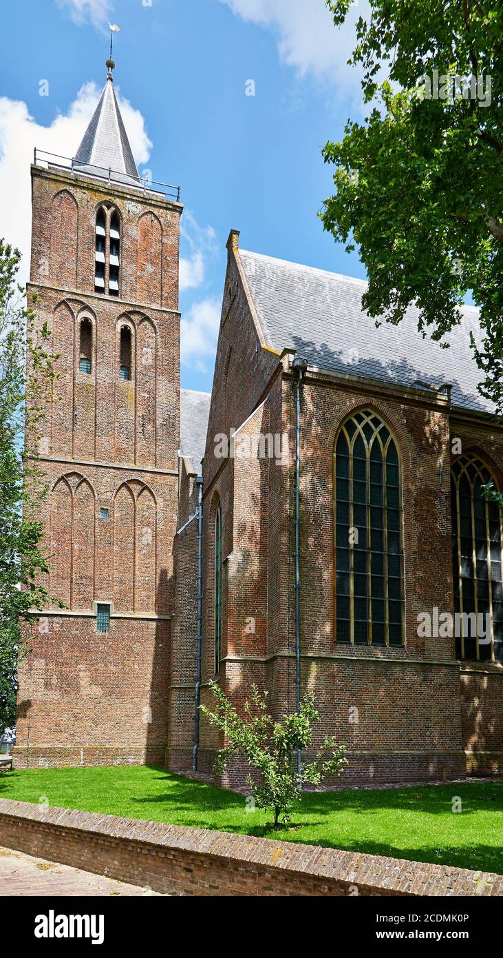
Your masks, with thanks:
M220 728L228 741L218 753L215 772L221 774L231 756L240 752L252 768L259 773L260 784L255 785L249 775L249 785L255 804L259 809L273 809L274 828L279 816L283 823L290 821L290 809L300 801L302 786L319 785L327 775L339 775L344 765L346 749L336 746L334 739L325 739L315 762L302 762L300 774L296 755L309 748L313 741L312 722L319 719L312 694L304 696L298 713L273 721L267 711L267 693L261 696L256 685L252 686L252 705L245 704L245 718L238 716L229 698L215 682L209 687L216 696L215 712L205 705L201 711L212 725Z

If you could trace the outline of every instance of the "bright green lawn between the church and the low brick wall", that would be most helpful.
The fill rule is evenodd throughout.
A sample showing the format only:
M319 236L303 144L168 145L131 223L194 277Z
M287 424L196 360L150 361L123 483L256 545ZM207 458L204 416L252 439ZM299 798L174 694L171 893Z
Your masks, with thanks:
M451 811L459 795L462 811ZM164 768L61 768L0 772L0 798L39 802L273 836L330 848L434 861L503 874L503 783L307 792L294 828L273 833L271 812L247 811L245 797L191 782ZM0 845L2 834L0 831Z

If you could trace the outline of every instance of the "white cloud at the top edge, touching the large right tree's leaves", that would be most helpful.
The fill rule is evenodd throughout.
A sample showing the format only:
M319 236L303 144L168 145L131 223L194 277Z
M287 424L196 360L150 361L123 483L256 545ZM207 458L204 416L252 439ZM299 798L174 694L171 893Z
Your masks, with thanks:
M360 86L358 70L347 66L356 46L355 24L369 10L368 0L357 0L339 29L325 0L221 0L244 20L273 29L280 57L300 76L340 84L340 94ZM256 80L257 78L255 78ZM350 87L351 89L348 89Z

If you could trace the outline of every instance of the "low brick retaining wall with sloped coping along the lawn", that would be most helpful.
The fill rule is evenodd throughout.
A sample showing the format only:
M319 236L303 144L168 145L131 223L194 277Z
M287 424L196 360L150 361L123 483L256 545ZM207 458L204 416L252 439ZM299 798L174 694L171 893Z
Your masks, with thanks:
M169 895L503 895L503 876L0 799L7 848Z

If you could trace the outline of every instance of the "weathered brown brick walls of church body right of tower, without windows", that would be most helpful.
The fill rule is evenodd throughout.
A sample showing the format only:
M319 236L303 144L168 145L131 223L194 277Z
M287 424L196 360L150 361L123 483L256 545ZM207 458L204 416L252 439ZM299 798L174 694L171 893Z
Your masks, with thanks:
M269 691L273 715L280 716L287 707L295 708L293 351L279 354L266 343L234 231L228 249L204 465L202 700L209 702L208 680L216 677L240 708L255 682ZM343 330L341 337L343 342ZM340 423L360 409L381 417L396 439L402 464L402 647L340 645L335 633L334 441ZM286 437L286 461L275 455L216 456L217 437L229 436L231 428L237 428L236 441L245 433ZM315 693L320 711L315 745L325 735L336 735L350 751L350 764L339 781L437 780L467 771L501 774L502 666L460 663L453 637L418 634L419 613L435 606L453 612L454 437L491 464L501 488L503 434L489 417L452 409L446 394L418 395L396 383L308 371L301 396L301 688ZM213 550L219 502L224 516L223 649L215 675ZM185 554L184 568L186 563ZM186 612L177 614L186 614L186 633L195 634L194 607L186 605ZM179 629L184 631L181 621ZM358 721L352 722L355 710ZM191 734L187 728L186 755ZM178 748L181 735L179 729ZM208 774L222 744L202 720L201 773ZM244 766L232 765L224 782L243 786Z

